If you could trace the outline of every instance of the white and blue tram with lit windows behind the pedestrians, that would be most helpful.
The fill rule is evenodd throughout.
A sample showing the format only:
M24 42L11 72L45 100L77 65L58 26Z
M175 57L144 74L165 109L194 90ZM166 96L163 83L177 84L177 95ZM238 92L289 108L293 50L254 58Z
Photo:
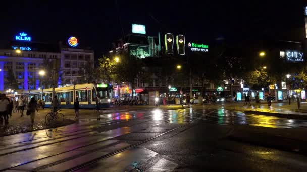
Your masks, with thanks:
M84 109L92 109L96 107L95 97L99 97L100 107L110 107L110 90L112 86L108 84L77 84L66 87L55 88L61 102L61 108L73 108L76 97L79 100L79 107ZM21 93L26 102L29 102L32 97L36 100L45 100L45 107L51 107L52 88L41 90L26 90Z

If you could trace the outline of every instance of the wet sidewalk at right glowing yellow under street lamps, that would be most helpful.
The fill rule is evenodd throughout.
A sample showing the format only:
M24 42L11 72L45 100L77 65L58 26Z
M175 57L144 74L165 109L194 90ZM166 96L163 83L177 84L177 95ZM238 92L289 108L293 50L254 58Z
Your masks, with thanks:
M293 102L291 105L287 103L272 103L271 107L268 107L266 103L262 103L260 108L255 105L254 102L251 102L251 106L244 106L245 103L233 103L225 106L227 110L241 111L244 113L258 114L258 115L268 115L276 116L281 118L291 118L299 120L307 120L307 102L302 102L301 110L298 112L297 103Z

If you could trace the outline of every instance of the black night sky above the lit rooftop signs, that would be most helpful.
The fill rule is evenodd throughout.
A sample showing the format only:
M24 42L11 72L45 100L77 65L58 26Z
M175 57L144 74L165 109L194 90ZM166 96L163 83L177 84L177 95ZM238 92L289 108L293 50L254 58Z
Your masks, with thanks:
M6 1L0 10L0 45L19 32L28 33L33 41L49 43L76 36L80 46L92 47L99 57L123 37L122 27L125 35L131 32L132 23L145 24L148 36L170 32L199 43L218 37L229 42L280 39L288 33L294 33L290 38L297 40L303 37L298 33L304 26L305 5L306 1L294 0Z

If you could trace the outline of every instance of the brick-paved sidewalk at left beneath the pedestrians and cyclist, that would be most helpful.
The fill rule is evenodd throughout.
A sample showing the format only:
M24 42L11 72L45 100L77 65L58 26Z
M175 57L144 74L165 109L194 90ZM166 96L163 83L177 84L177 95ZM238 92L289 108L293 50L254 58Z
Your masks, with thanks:
M9 116L9 125L5 126L4 124L0 124L0 136L60 127L75 122L74 120L65 117L63 123L59 123L53 126L46 126L45 115L48 111L49 109L40 109L38 112L36 112L36 117L34 119L33 125L31 124L30 116L26 115L26 110L24 111L24 116L22 117L20 117L20 113L12 113L12 116Z

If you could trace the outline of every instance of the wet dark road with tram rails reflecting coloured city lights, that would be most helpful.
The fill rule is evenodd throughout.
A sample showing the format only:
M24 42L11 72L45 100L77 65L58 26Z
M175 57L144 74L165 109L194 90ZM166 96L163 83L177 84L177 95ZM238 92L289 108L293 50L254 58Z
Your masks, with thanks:
M303 155L228 138L238 126L280 132L304 130L307 121L303 120L244 114L222 107L131 107L88 113L64 127L0 137L0 170L287 171L307 167ZM238 166L235 160L244 162Z

